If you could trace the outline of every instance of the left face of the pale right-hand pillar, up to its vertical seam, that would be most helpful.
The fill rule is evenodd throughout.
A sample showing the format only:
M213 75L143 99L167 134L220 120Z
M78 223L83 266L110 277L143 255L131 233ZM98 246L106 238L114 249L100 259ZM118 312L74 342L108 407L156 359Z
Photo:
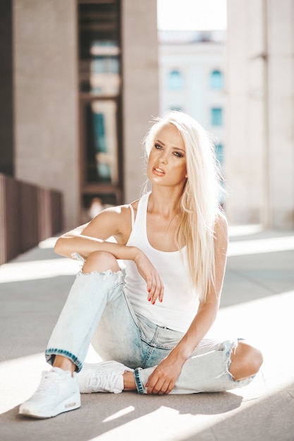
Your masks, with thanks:
M230 194L226 211L232 223L259 222L264 199L261 4L262 0L254 4L246 0L228 2L225 174Z

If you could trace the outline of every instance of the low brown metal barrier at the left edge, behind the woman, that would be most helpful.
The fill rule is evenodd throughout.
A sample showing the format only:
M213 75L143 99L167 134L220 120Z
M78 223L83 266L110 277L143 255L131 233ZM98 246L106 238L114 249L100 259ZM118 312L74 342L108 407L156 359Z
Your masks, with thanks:
M61 192L0 173L0 264L62 229Z

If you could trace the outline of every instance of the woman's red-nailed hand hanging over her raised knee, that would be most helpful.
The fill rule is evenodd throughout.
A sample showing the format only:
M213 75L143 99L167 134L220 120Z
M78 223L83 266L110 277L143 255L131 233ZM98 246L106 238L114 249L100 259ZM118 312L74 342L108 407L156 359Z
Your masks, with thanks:
M137 271L139 271L140 275L142 275L142 278L146 282L148 301L153 305L157 299L159 299L159 302L162 302L164 298L164 284L162 283L157 270L140 249L136 249L133 261L137 266Z

